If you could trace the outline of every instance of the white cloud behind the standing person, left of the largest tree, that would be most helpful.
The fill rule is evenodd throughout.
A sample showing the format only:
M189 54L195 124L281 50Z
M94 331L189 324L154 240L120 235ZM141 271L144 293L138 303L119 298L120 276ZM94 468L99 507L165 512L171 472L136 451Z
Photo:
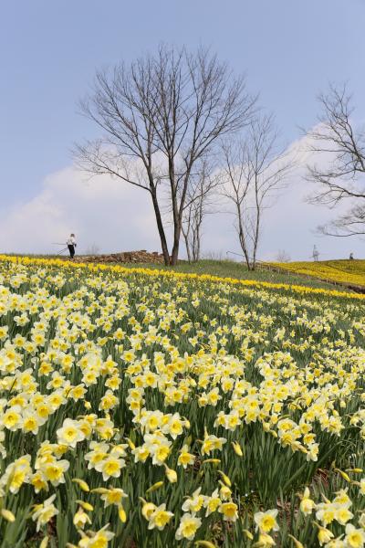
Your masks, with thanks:
M149 195L107 175L87 180L67 168L47 176L43 190L29 202L1 216L0 249L49 253L70 232L79 251L97 245L102 251L159 248Z

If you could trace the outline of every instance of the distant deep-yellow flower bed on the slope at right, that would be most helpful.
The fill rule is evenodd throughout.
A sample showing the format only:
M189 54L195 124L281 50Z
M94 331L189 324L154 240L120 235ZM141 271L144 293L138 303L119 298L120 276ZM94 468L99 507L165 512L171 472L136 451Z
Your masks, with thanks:
M270 263L279 269L325 281L365 287L365 260Z

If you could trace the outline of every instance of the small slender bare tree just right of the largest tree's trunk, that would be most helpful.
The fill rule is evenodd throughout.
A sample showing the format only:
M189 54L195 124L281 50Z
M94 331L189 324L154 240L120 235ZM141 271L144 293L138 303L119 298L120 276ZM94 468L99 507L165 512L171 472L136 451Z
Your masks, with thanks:
M182 231L189 262L196 262L201 256L203 218L214 213L214 195L222 182L221 174L207 158L195 170L183 208Z

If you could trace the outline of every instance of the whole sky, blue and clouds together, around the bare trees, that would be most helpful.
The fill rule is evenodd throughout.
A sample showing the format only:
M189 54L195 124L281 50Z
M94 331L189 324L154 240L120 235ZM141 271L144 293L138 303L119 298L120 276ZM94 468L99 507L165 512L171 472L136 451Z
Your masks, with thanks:
M96 69L161 42L211 47L244 73L288 147L316 124L328 82L349 82L356 122L365 121L365 0L4 0L0 10L0 252L52 253L71 231L80 251L160 249L148 196L88 180L71 149L99 136L77 106ZM305 260L314 244L320 258L365 258L364 239L316 234L334 212L305 202L302 174L267 210L259 258L284 249ZM210 216L203 253L227 251L239 252L233 217Z

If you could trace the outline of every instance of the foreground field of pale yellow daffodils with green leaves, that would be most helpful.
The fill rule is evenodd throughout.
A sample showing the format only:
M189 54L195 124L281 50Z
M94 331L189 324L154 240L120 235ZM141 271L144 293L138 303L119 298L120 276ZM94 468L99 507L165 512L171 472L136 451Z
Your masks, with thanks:
M362 295L0 258L1 548L365 545Z

